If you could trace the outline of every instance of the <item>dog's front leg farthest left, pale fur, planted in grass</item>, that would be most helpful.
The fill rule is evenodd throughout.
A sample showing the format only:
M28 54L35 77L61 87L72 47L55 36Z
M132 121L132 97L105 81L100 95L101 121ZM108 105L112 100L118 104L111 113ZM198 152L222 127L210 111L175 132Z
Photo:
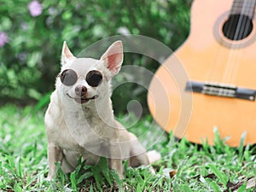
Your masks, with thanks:
M56 166L55 162L61 162L63 159L63 154L61 148L55 143L48 144L48 162L49 162L49 172L47 180L52 180L55 177Z

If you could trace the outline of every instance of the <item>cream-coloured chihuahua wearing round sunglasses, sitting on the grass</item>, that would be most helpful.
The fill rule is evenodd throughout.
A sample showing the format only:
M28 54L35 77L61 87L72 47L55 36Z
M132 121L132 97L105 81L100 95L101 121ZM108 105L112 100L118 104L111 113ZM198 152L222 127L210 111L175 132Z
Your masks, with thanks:
M123 177L122 160L130 166L149 165L148 154L137 137L114 119L111 79L123 62L123 45L116 41L100 60L77 58L62 47L61 73L50 96L44 123L48 137L48 180L55 162L63 172L73 172L78 160L89 165L106 157L108 166Z

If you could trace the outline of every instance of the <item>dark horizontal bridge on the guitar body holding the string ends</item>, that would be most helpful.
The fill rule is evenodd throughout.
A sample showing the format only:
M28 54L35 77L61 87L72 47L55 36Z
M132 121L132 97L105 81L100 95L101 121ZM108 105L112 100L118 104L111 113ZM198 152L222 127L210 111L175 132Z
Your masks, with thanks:
M211 96L224 96L230 98L245 99L249 101L255 101L256 96L256 90L236 87L232 84L201 83L196 81L189 81L186 84L185 90Z

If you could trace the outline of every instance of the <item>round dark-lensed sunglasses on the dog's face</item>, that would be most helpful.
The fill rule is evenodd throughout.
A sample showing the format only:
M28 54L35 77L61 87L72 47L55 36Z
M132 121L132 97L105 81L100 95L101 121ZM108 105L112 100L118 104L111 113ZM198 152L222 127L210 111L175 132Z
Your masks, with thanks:
M75 71L72 69L66 69L64 70L61 74L58 75L58 77L61 78L61 83L65 84L67 86L72 86L75 84L79 76ZM89 73L86 74L86 77L84 78L87 82L92 87L96 87L102 83L102 73L96 70L92 70Z

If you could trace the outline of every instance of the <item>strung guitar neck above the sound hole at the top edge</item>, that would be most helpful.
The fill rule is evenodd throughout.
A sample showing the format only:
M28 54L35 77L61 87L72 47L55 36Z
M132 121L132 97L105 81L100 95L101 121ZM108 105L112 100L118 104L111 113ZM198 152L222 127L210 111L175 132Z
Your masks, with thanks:
M253 19L256 0L235 0L230 15L247 15Z

